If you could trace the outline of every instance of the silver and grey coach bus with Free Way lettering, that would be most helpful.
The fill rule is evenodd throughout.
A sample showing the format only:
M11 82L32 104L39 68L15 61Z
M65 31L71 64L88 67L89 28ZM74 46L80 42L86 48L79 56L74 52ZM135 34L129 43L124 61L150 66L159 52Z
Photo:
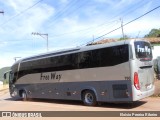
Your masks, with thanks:
M155 89L151 45L140 39L24 58L9 73L10 95L23 100L80 100L94 106L137 101Z

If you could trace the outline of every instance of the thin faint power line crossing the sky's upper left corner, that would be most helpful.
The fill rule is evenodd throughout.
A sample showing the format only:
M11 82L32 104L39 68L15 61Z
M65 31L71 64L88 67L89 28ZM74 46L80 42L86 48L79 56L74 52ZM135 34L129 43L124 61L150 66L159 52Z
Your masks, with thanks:
M34 6L36 6L38 3L42 2L43 0L40 0L38 2L36 2L35 4L33 4L32 6L26 8L25 10L21 11L20 13L16 14L15 16L9 18L7 21L5 21L3 24L1 24L0 26L6 25L8 22L10 22L11 20L13 20L14 18L16 18L17 16L20 16L22 14L24 14L26 11L32 9Z

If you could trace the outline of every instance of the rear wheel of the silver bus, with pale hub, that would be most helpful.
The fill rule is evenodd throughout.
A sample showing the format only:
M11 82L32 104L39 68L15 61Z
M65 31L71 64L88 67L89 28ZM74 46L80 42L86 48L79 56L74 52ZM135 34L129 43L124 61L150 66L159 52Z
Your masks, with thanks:
M95 93L91 90L82 93L82 101L86 106L95 106L97 104Z

